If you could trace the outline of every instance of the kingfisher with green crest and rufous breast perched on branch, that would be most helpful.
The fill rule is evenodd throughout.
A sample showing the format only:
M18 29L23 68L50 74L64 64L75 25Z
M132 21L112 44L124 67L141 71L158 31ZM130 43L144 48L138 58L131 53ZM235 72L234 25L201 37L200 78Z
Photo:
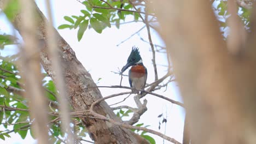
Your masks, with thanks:
M138 47L133 46L130 56L127 59L126 65L121 69L121 74L131 67L129 70L129 83L132 88L143 89L145 88L148 71L142 63L141 55L139 55ZM133 93L139 93L139 91L132 90ZM141 92L142 94L142 92Z

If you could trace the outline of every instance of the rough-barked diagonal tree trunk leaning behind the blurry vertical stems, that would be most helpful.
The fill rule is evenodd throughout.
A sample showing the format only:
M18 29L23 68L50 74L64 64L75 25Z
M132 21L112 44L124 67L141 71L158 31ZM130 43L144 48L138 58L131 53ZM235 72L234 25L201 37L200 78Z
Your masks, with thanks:
M5 0L0 0L0 8L4 7L5 2ZM38 23L37 37L39 38L41 49L41 63L46 73L55 80L55 74L51 68L51 58L46 51L46 49L48 49L46 45L47 38L45 24L47 20L35 3L34 7L37 8L35 16L37 17ZM22 27L20 14L16 15L13 25L18 31L20 31ZM55 31L55 33L62 61L63 76L65 77L68 100L75 111L87 110L94 101L102 98L102 95L98 88L93 88L96 87L96 84L92 80L88 71L78 61L77 57L75 57L75 53L71 49L71 46L67 44L57 31ZM100 104L95 106L95 112L110 117L115 121L121 121L117 116L115 116L114 112L105 101L102 101ZM131 130L104 122L100 119L82 118L82 120L95 143L148 143Z

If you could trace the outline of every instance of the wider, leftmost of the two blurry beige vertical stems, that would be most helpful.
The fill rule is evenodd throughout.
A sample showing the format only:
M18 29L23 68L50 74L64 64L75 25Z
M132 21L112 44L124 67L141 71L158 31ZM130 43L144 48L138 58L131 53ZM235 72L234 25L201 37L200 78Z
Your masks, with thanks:
M30 101L32 119L35 119L32 128L36 132L38 143L48 142L48 113L46 98L43 94L40 56L38 39L36 37L36 15L33 1L20 1L21 5L21 34L24 39L24 47L21 49L22 78L26 84L26 98ZM25 8L26 7L26 8ZM29 22L28 22L29 21ZM23 49L24 48L24 49ZM31 119L31 120L32 120Z

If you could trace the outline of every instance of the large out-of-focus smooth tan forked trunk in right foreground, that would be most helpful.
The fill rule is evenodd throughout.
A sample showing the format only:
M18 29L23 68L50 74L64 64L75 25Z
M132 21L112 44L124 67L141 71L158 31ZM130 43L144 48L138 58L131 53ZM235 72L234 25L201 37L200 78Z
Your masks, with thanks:
M255 143L255 14L241 53L231 55L211 2L154 1L189 119L193 143Z

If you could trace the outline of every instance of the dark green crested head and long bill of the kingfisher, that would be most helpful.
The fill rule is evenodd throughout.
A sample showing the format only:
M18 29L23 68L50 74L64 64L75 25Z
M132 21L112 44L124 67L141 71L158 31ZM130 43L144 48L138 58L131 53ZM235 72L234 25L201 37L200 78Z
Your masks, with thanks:
M130 56L127 59L126 65L121 69L121 74L123 74L127 68L139 63L142 63L141 55L139 55L138 48L133 46Z

